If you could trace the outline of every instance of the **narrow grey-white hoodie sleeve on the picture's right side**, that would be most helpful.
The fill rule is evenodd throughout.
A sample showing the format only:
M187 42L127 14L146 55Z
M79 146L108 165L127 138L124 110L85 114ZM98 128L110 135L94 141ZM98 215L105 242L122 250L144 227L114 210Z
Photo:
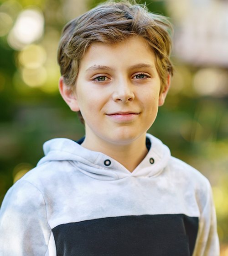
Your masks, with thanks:
M206 197L206 199L204 199ZM207 182L204 205L201 208L199 230L193 256L219 256L216 213L212 200L212 189ZM201 197L202 199L202 197Z

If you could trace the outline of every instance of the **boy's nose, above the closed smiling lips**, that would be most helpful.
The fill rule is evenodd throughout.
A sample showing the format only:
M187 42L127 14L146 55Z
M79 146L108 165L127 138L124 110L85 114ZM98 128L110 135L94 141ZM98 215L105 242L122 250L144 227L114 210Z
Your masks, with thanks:
M116 102L127 103L134 101L135 94L129 81L119 81L114 85L113 100Z

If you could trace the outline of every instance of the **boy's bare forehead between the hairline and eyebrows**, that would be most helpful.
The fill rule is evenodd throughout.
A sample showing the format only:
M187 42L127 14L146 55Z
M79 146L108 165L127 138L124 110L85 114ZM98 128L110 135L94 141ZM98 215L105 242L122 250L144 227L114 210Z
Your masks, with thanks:
M134 36L119 43L92 43L83 55L80 66L97 64L133 65L134 63L143 62L155 63L155 53L144 38Z

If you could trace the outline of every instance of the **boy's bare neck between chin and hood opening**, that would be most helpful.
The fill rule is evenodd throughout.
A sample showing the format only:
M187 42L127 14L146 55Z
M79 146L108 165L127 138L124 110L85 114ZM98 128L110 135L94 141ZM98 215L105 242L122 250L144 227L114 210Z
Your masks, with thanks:
M88 143L89 142L89 143ZM134 171L145 158L148 150L145 145L145 135L129 144L114 144L95 137L92 140L86 136L82 143L86 149L98 151L117 160L130 172Z

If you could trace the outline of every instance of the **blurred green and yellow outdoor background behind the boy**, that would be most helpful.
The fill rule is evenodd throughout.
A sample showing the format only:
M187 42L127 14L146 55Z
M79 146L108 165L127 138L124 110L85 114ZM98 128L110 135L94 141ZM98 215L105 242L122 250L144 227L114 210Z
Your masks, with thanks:
M0 203L52 138L79 139L77 115L58 93L64 24L98 0L0 1ZM145 3L145 1L138 1ZM212 184L221 256L228 256L228 1L146 1L174 24L176 71L150 133Z

